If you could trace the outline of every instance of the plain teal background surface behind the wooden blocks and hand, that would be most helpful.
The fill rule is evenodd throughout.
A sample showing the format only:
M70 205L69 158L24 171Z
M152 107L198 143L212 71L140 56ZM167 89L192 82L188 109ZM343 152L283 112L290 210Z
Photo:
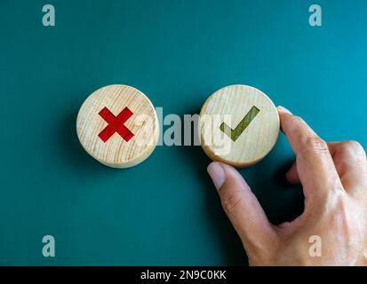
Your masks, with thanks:
M304 0L2 1L0 264L247 264L200 146L158 146L137 167L109 169L79 145L76 113L111 83L181 117L243 83L326 140L367 146L367 4L316 3L322 28L308 25ZM283 180L292 159L282 135L241 170L275 223L302 211L301 189ZM54 258L42 256L45 234Z

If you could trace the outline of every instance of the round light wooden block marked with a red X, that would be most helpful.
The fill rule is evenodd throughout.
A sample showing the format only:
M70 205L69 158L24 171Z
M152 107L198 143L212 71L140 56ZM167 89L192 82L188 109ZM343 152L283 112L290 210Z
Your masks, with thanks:
M154 151L159 137L156 109L139 90L110 85L81 106L76 132L86 152L113 168L129 168Z

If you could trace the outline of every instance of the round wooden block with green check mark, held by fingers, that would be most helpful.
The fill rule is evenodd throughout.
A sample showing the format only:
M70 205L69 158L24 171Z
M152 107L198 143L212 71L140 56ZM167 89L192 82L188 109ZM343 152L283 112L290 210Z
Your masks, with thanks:
M213 161L251 166L275 146L279 115L273 102L256 88L227 86L205 101L199 131L203 151Z

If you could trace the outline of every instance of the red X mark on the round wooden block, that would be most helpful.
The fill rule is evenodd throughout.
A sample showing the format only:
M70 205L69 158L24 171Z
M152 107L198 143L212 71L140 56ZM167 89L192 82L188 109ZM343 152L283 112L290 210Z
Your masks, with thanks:
M132 111L128 107L125 107L117 116L112 114L107 107L104 107L100 111L100 116L108 122L108 126L99 134L99 137L103 142L106 143L106 141L108 141L115 132L120 134L126 142L129 142L129 140L134 136L132 131L128 130L126 126L124 126L124 122L132 116Z

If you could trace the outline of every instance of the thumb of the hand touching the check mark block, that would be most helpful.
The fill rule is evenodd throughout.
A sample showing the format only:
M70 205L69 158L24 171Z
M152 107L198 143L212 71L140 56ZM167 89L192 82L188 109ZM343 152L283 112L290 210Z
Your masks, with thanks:
M247 253L255 252L254 249L266 252L274 245L276 233L250 186L237 170L221 162L211 162L208 173Z

